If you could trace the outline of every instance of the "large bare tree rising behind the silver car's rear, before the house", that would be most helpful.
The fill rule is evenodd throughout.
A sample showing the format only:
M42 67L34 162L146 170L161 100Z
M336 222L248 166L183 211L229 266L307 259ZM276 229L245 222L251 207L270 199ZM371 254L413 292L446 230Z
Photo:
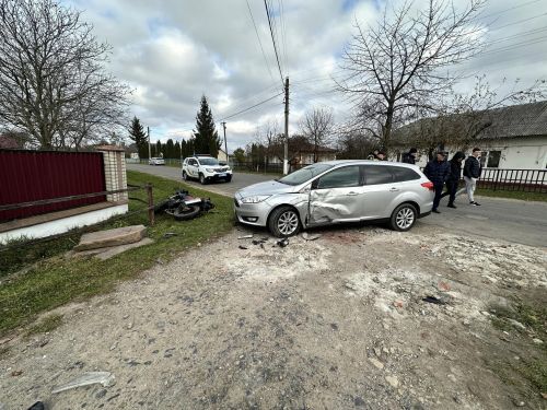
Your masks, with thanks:
M486 0L469 0L457 11L450 0L429 0L414 11L412 2L393 10L386 5L375 27L356 23L342 57L346 75L339 90L353 99L362 128L389 150L394 124L409 110L432 108L457 77L447 70L481 49L481 30L474 23Z

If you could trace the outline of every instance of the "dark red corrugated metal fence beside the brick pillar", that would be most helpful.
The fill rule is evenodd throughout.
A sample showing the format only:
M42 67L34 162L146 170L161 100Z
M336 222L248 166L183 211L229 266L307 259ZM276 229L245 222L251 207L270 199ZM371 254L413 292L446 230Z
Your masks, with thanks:
M103 154L0 150L0 204L106 190ZM0 211L0 221L103 202L105 196Z

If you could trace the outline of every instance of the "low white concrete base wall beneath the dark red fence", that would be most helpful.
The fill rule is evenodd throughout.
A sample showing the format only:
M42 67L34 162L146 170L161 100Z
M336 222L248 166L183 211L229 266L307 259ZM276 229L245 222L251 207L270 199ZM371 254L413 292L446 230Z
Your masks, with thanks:
M49 221L37 225L25 226L19 230L2 232L0 233L0 244L5 244L8 241L18 239L20 237L35 239L38 237L62 234L74 227L93 225L95 223L105 221L112 216L126 213L128 210L129 208L127 204L120 204L81 213L69 218L63 218L56 221Z

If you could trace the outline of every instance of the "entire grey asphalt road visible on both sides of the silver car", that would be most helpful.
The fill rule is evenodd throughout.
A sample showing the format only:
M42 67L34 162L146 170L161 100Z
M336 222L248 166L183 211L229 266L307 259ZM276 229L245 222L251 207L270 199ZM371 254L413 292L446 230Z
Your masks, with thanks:
M170 166L128 164L128 169L150 173L182 180L181 169ZM270 175L235 173L231 183L219 183L199 188L211 192L233 196L237 189L272 179ZM547 247L547 202L526 202L515 199L477 197L480 207L468 204L467 196L456 198L457 209L446 208L447 199L441 201L441 214L431 214L419 223L438 226L440 231L468 233L492 239L514 242L523 245Z

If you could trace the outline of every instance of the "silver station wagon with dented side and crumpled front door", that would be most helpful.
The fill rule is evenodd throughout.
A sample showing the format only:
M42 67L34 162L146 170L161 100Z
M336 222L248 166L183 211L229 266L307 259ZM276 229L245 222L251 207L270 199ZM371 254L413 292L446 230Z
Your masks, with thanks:
M416 165L329 161L238 190L234 210L238 222L268 226L279 237L360 221L385 221L408 231L431 213L433 195L433 184Z

